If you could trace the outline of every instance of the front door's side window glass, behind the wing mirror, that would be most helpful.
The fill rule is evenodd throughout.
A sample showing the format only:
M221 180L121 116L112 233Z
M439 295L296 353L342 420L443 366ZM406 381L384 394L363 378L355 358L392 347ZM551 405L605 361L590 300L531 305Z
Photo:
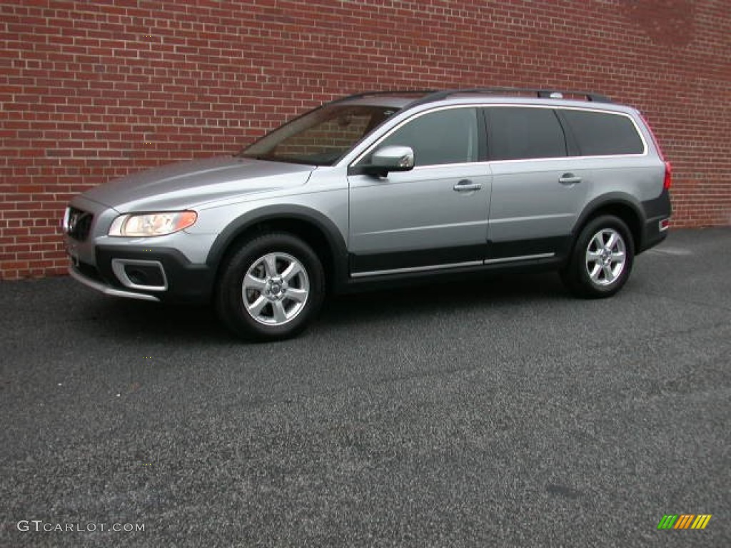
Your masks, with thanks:
M415 166L477 161L477 109L450 108L414 118L382 140L378 148L408 146ZM366 157L361 163L368 164Z

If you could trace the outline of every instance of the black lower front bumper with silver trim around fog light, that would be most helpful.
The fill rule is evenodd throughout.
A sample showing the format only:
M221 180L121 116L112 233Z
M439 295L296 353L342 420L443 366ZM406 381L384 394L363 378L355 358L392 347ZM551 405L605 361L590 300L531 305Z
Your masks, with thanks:
M208 302L213 270L172 248L96 246L96 265L72 259L69 274L115 297L164 302Z

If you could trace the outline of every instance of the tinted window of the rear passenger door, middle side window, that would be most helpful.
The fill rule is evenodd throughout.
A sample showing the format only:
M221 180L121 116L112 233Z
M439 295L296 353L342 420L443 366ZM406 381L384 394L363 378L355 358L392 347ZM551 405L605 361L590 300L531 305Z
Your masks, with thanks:
M490 107L486 109L491 160L560 158L566 137L550 108Z

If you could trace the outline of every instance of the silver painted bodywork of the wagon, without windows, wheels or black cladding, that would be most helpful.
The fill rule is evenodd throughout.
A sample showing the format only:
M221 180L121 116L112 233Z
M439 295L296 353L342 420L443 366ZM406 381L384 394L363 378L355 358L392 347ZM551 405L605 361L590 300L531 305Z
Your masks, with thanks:
M364 97L353 104L404 107L404 97ZM475 161L415 167L387 177L348 175L377 143L410 118L432 110L460 106L505 105L572 108L619 113L632 119L645 145L643 154L564 157L524 161ZM445 138L448 138L445 137ZM575 184L559 181L565 175ZM297 208L324 216L335 227L349 254L399 254L439 248L510 243L572 234L592 200L607 193L635 202L659 197L664 163L639 113L617 104L556 99L492 98L458 94L400 110L331 167L259 161L239 157L212 158L159 167L129 175L87 191L71 205L93 213L89 237L66 237L73 260L96 264L97 246L135 249L140 246L178 250L193 265L204 265L216 238L244 216L277 207ZM455 191L469 180L480 186ZM195 210L189 229L162 237L110 237L114 218L123 213ZM545 250L539 257L552 256ZM516 254L515 260L524 259ZM489 253L466 264L510 261ZM452 262L451 265L463 265ZM410 270L450 267L435 257L433 265ZM409 267L384 271L409 271ZM360 272L378 275L379 271Z

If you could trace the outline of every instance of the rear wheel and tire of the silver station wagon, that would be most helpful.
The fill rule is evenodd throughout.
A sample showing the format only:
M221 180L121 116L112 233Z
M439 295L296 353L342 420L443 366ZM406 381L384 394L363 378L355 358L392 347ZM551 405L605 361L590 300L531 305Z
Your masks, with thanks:
M634 259L635 243L624 221L600 216L581 230L561 280L578 297L611 297L626 283Z

